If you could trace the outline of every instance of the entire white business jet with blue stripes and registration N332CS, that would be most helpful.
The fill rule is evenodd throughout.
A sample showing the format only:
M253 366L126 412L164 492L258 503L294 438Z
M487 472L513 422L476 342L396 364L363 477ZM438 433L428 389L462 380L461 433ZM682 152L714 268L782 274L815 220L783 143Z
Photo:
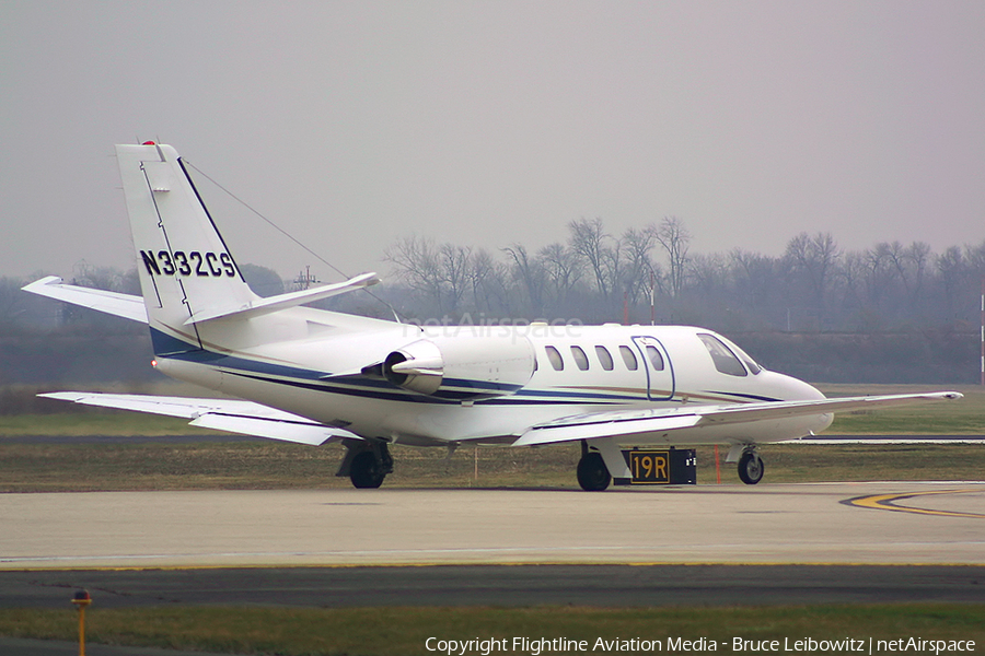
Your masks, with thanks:
M749 484L757 447L812 435L832 413L953 400L954 391L826 399L687 326L421 327L304 307L379 282L256 295L170 145L117 145L142 297L48 277L24 289L150 327L161 373L234 398L54 393L91 406L309 445L340 443L337 476L379 488L390 445L577 442L577 479L630 480L624 447L725 445Z

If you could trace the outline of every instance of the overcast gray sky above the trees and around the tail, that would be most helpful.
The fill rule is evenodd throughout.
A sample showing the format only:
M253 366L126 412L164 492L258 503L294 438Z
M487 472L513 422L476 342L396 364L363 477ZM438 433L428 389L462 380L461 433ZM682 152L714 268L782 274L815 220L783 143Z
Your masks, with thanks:
M0 0L0 274L132 266L154 139L355 273L416 233L985 238L985 2ZM331 271L209 185L240 261Z

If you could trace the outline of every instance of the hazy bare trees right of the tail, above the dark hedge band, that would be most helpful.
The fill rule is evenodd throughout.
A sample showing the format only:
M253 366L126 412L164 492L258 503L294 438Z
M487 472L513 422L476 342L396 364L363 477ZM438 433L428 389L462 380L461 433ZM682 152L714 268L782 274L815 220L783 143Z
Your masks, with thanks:
M693 253L669 216L621 235L601 219L568 223L564 242L499 250L397 239L385 250L414 317L698 324L725 331L878 332L978 324L985 241L934 253L924 242L860 250L800 233L781 255Z

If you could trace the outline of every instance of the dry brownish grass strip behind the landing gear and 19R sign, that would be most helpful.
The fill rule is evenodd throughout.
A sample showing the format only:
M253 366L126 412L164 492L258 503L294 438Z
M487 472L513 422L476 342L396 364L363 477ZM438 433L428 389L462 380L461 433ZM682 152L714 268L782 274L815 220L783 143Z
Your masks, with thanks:
M577 489L577 446L443 449L395 446L387 488ZM981 445L766 445L764 483L981 480ZM349 488L336 478L343 448L274 442L24 444L0 440L0 492ZM716 482L711 447L698 447L698 483ZM719 455L725 459L725 452ZM738 483L721 464L723 483Z

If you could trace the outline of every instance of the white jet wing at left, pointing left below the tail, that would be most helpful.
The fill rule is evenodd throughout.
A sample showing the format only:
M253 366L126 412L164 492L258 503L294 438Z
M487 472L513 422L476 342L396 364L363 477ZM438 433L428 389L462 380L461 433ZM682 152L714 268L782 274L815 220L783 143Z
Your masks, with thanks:
M56 391L42 394L59 399L120 410L135 410L152 414L166 414L190 420L190 425L268 440L296 442L318 446L339 440L362 440L356 433L328 426L298 414L235 399L194 399L140 394L96 394L82 391Z

